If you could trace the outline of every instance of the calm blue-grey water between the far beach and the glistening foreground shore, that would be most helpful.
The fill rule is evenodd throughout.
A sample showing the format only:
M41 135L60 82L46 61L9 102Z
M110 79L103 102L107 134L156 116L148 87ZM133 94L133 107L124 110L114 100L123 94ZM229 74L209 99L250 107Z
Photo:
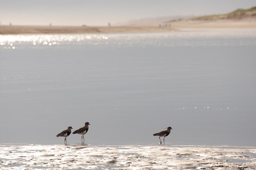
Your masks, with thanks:
M0 143L256 146L255 54L255 29L0 36Z

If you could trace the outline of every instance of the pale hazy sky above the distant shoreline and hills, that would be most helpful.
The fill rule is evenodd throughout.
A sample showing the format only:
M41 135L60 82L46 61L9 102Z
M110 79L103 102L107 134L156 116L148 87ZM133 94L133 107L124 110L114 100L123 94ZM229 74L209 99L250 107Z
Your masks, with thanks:
M107 25L133 19L228 13L255 0L0 0L1 25Z

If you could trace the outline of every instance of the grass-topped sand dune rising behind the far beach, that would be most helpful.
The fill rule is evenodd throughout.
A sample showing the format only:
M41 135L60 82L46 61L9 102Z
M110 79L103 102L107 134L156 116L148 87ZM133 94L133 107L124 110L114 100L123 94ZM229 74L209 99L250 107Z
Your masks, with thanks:
M244 20L244 19L256 19L256 7L250 9L237 9L236 11L211 16L201 16L191 18L190 20Z

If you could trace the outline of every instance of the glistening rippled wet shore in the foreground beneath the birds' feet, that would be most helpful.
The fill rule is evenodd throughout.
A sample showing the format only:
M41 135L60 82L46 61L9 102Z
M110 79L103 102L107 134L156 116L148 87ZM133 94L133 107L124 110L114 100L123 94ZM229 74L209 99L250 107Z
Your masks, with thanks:
M186 145L1 145L1 169L255 169L256 148Z

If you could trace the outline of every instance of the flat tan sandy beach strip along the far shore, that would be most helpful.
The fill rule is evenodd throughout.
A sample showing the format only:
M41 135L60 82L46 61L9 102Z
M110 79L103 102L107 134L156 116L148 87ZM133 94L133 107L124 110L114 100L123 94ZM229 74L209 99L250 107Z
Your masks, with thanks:
M119 33L152 32L182 29L255 29L255 20L182 20L169 22L168 27L153 26L7 26L0 25L0 34L79 34L79 33Z

